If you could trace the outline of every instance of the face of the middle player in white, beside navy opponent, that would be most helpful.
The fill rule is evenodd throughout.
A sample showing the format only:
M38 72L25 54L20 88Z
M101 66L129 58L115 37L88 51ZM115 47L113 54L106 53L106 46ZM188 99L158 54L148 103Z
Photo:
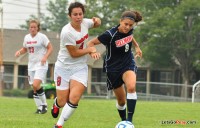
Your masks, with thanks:
M75 25L80 25L83 20L83 11L81 8L72 9L72 13L70 15L71 21Z

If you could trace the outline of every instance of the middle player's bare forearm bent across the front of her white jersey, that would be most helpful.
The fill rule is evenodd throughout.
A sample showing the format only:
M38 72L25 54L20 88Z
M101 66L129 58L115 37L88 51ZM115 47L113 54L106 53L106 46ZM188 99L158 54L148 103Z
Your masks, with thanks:
M71 55L71 57L73 58L96 52L95 47L87 47L85 49L78 49L76 46L67 45L66 48L69 51L69 54Z

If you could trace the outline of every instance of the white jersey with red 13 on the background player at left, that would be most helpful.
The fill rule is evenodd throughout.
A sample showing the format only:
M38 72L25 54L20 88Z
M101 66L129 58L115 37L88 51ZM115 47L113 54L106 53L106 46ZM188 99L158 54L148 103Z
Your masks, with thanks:
M41 65L41 60L47 52L47 45L49 39L46 35L38 32L34 37L31 34L27 34L24 37L23 47L27 48L29 54L28 70L34 71L37 69L47 69L48 62L45 65Z

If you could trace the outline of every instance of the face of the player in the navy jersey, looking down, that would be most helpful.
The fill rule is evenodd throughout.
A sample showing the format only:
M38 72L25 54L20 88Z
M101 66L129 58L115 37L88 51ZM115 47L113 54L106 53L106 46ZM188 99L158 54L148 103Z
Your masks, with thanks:
M118 27L118 29L121 33L128 33L135 25L136 22L129 18L125 18L120 20L120 26Z

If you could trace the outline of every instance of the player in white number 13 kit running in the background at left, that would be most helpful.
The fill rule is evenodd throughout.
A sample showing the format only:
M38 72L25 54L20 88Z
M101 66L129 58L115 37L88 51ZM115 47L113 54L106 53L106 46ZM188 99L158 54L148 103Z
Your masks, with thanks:
M16 57L28 52L28 80L33 86L33 98L37 106L36 113L47 112L46 96L40 86L46 78L48 70L47 59L52 53L52 45L46 35L40 33L40 23L37 20L29 22L29 34L24 37L23 47L15 53Z

